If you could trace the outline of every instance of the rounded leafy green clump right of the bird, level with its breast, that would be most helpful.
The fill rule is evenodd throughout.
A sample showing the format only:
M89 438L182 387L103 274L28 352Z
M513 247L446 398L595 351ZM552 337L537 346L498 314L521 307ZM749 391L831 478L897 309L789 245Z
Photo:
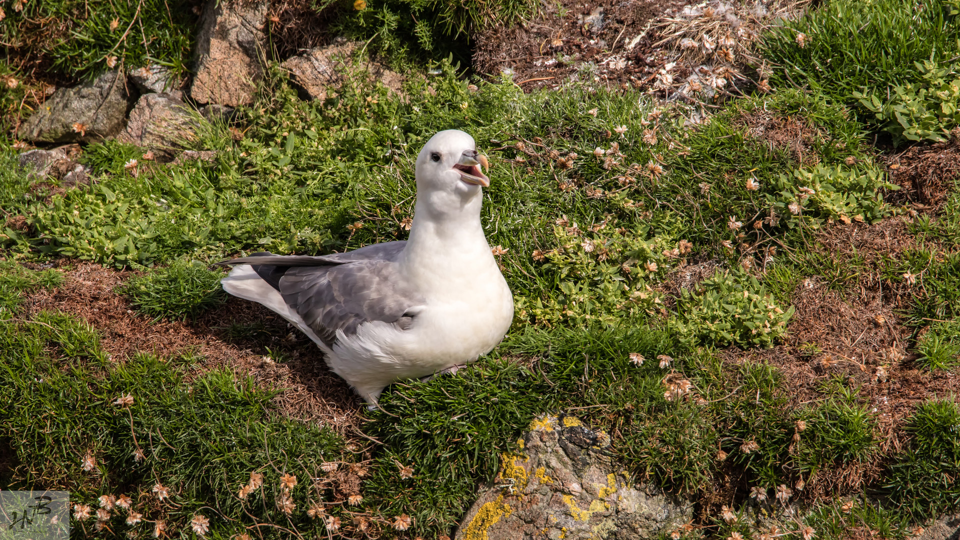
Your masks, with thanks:
M687 339L717 345L773 347L786 334L794 308L777 306L766 287L742 271L718 272L684 289L671 324Z

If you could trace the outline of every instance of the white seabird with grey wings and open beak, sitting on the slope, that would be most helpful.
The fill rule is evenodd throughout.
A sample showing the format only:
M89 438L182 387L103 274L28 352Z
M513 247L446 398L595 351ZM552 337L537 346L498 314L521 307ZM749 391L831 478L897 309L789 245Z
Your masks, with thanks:
M514 299L480 225L490 179L470 135L430 138L417 157L406 241L321 257L256 253L218 264L224 290L279 313L371 406L396 380L455 372L489 353Z

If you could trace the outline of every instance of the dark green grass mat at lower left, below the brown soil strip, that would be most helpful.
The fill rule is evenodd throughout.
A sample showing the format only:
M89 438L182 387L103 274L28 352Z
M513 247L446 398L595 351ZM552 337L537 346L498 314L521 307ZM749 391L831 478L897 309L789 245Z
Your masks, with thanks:
M32 324L31 324L32 323ZM274 524L322 532L304 510L312 501L334 501L335 482L324 461L352 461L343 439L330 430L278 417L276 392L227 371L198 374L197 358L135 356L111 362L98 337L83 322L41 312L30 322L0 323L0 440L17 456L0 477L3 489L42 485L67 489L72 503L98 506L101 495L127 495L132 510L181 530L195 514L210 518L211 534L228 537L244 528ZM114 405L130 395L130 407ZM137 460L140 449L144 457ZM86 471L89 455L94 468ZM343 465L346 467L346 465ZM264 475L262 490L241 502L236 496L252 472ZM276 509L281 474L299 479L291 518ZM160 502L153 487L169 488ZM339 515L338 505L327 511ZM108 526L149 533L148 523L125 524L115 511ZM348 519L344 516L344 519ZM94 520L83 527L92 533ZM74 527L80 528L76 523ZM263 532L276 537L273 526ZM184 530L184 533L186 530Z

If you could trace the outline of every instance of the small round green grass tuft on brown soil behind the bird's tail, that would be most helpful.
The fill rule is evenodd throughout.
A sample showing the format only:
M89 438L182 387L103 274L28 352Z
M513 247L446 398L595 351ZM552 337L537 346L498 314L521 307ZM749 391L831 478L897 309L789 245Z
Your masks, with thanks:
M223 274L202 262L174 261L170 266L131 278L120 289L137 311L151 317L196 317L227 299L220 287Z

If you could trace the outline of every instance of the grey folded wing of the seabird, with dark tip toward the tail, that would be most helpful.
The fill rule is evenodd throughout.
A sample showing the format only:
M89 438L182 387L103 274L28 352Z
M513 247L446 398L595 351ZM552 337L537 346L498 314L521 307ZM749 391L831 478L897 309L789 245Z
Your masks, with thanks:
M337 331L356 333L363 323L382 321L407 330L423 299L404 281L396 259L406 242L373 244L320 257L270 253L218 264L250 264L288 306L332 347Z

